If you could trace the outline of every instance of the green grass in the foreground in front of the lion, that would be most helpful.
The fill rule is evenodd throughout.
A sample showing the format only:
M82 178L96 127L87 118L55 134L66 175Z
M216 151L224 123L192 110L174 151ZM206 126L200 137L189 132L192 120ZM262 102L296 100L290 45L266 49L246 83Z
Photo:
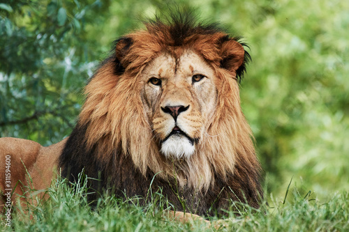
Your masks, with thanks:
M199 220L183 224L164 217L163 210L170 203L161 194L153 194L152 203L142 207L137 198L121 201L104 196L94 210L87 202L84 185L73 189L64 180L57 180L47 194L50 200L37 207L17 208L12 228L5 231L349 231L348 192L320 202L311 194L301 196L297 189L290 190L285 199L271 198L259 210L240 207L240 217L230 211L224 223L211 218L216 227L207 227Z

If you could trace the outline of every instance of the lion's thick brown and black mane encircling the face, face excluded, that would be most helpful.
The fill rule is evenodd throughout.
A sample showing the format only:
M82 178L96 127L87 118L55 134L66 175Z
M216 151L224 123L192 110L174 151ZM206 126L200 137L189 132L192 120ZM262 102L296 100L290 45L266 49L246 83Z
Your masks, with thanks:
M229 199L258 208L260 165L251 130L240 107L242 62L225 51L231 38L216 24L195 23L190 15L154 20L146 29L116 41L113 54L103 61L85 88L86 101L77 125L59 157L62 175L76 181L84 170L96 190L117 196L147 196L161 188L178 210L211 214L209 208L228 209ZM241 44L241 43L240 43ZM244 45L244 44L242 44ZM190 159L170 160L159 153L140 98L138 77L160 52L191 47L214 68L221 85L214 120ZM239 65L235 72L230 66ZM152 181L152 184L151 184ZM91 195L94 199L96 195Z

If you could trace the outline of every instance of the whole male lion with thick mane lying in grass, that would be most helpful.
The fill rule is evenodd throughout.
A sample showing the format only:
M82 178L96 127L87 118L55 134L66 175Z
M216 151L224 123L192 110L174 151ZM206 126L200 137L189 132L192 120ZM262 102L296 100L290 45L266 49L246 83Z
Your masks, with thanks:
M197 215L221 214L231 201L258 208L260 165L239 100L244 44L190 15L145 26L119 38L91 77L68 139L48 148L0 140L1 175L10 155L13 185L26 183L23 162L37 189L59 168L120 197L161 189L176 210Z

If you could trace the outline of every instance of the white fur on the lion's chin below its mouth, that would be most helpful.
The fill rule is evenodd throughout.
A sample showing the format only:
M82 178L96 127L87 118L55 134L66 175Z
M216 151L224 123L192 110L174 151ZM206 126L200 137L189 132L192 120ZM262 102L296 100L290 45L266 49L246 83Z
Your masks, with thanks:
M193 155L195 145L182 135L172 135L161 144L161 153L165 157L173 157L174 159L188 158Z

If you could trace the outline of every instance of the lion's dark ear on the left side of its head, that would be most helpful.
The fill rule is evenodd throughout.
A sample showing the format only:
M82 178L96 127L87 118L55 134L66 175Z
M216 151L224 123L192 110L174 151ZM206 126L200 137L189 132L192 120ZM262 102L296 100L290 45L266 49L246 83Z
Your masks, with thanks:
M128 37L119 38L115 41L115 56L117 58L117 72L122 73L127 68L128 61L125 59L128 49L132 45L132 39Z

